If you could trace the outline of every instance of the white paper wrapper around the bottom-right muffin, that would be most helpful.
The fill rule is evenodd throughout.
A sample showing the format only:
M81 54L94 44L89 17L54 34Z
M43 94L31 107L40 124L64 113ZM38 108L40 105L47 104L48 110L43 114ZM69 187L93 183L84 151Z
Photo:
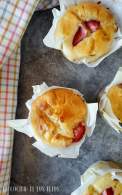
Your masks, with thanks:
M122 183L122 169L119 166L113 162L99 161L81 175L81 186L72 192L71 195L81 195L89 185L107 173L111 173L113 179L117 179Z

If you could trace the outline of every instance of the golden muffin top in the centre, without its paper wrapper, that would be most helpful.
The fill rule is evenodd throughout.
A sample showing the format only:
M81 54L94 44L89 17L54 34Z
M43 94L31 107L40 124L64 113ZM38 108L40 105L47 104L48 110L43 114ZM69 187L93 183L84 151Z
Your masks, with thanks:
M87 104L80 94L57 87L33 100L29 119L37 140L67 147L85 136L87 114Z

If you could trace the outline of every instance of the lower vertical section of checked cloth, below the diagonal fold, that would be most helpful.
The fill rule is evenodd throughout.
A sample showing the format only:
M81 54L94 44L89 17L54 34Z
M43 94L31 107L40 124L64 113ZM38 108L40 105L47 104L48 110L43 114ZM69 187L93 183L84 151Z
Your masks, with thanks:
M20 48L0 72L0 192L7 191L10 180L13 131L7 127L6 120L15 117L19 65Z

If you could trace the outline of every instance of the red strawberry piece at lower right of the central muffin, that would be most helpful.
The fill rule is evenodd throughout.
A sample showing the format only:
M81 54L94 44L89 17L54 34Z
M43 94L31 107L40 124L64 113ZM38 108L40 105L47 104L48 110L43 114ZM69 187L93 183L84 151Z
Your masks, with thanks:
M78 142L85 134L85 125L79 123L77 127L73 129L74 132L74 142Z

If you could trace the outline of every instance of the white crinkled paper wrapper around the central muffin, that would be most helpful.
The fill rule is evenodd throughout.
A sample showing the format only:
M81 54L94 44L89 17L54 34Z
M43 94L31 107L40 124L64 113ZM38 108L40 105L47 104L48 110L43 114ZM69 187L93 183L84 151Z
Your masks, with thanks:
M34 94L32 96L32 99L26 102L26 106L28 110L29 111L31 110L31 104L38 96L42 95L43 93L45 93L46 91L50 89L57 88L57 87L58 86L48 87L46 83L43 83L42 85L33 86ZM79 91L75 89L72 89L72 90L74 91L74 93L78 93L79 95L82 96L82 94ZM87 125L86 134L84 135L81 141L77 143L73 143L71 146L68 146L66 148L57 148L57 147L52 147L47 144L44 144L39 139L33 144L33 146L39 149L44 154L51 156L51 157L58 156L62 158L76 158L79 155L80 146L84 142L86 135L91 136L95 128L98 104L97 103L87 104L87 107L88 107L88 119L87 119L87 124L86 124ZM21 133L28 135L29 137L35 137L29 118L8 121L8 126L14 128L15 130Z

